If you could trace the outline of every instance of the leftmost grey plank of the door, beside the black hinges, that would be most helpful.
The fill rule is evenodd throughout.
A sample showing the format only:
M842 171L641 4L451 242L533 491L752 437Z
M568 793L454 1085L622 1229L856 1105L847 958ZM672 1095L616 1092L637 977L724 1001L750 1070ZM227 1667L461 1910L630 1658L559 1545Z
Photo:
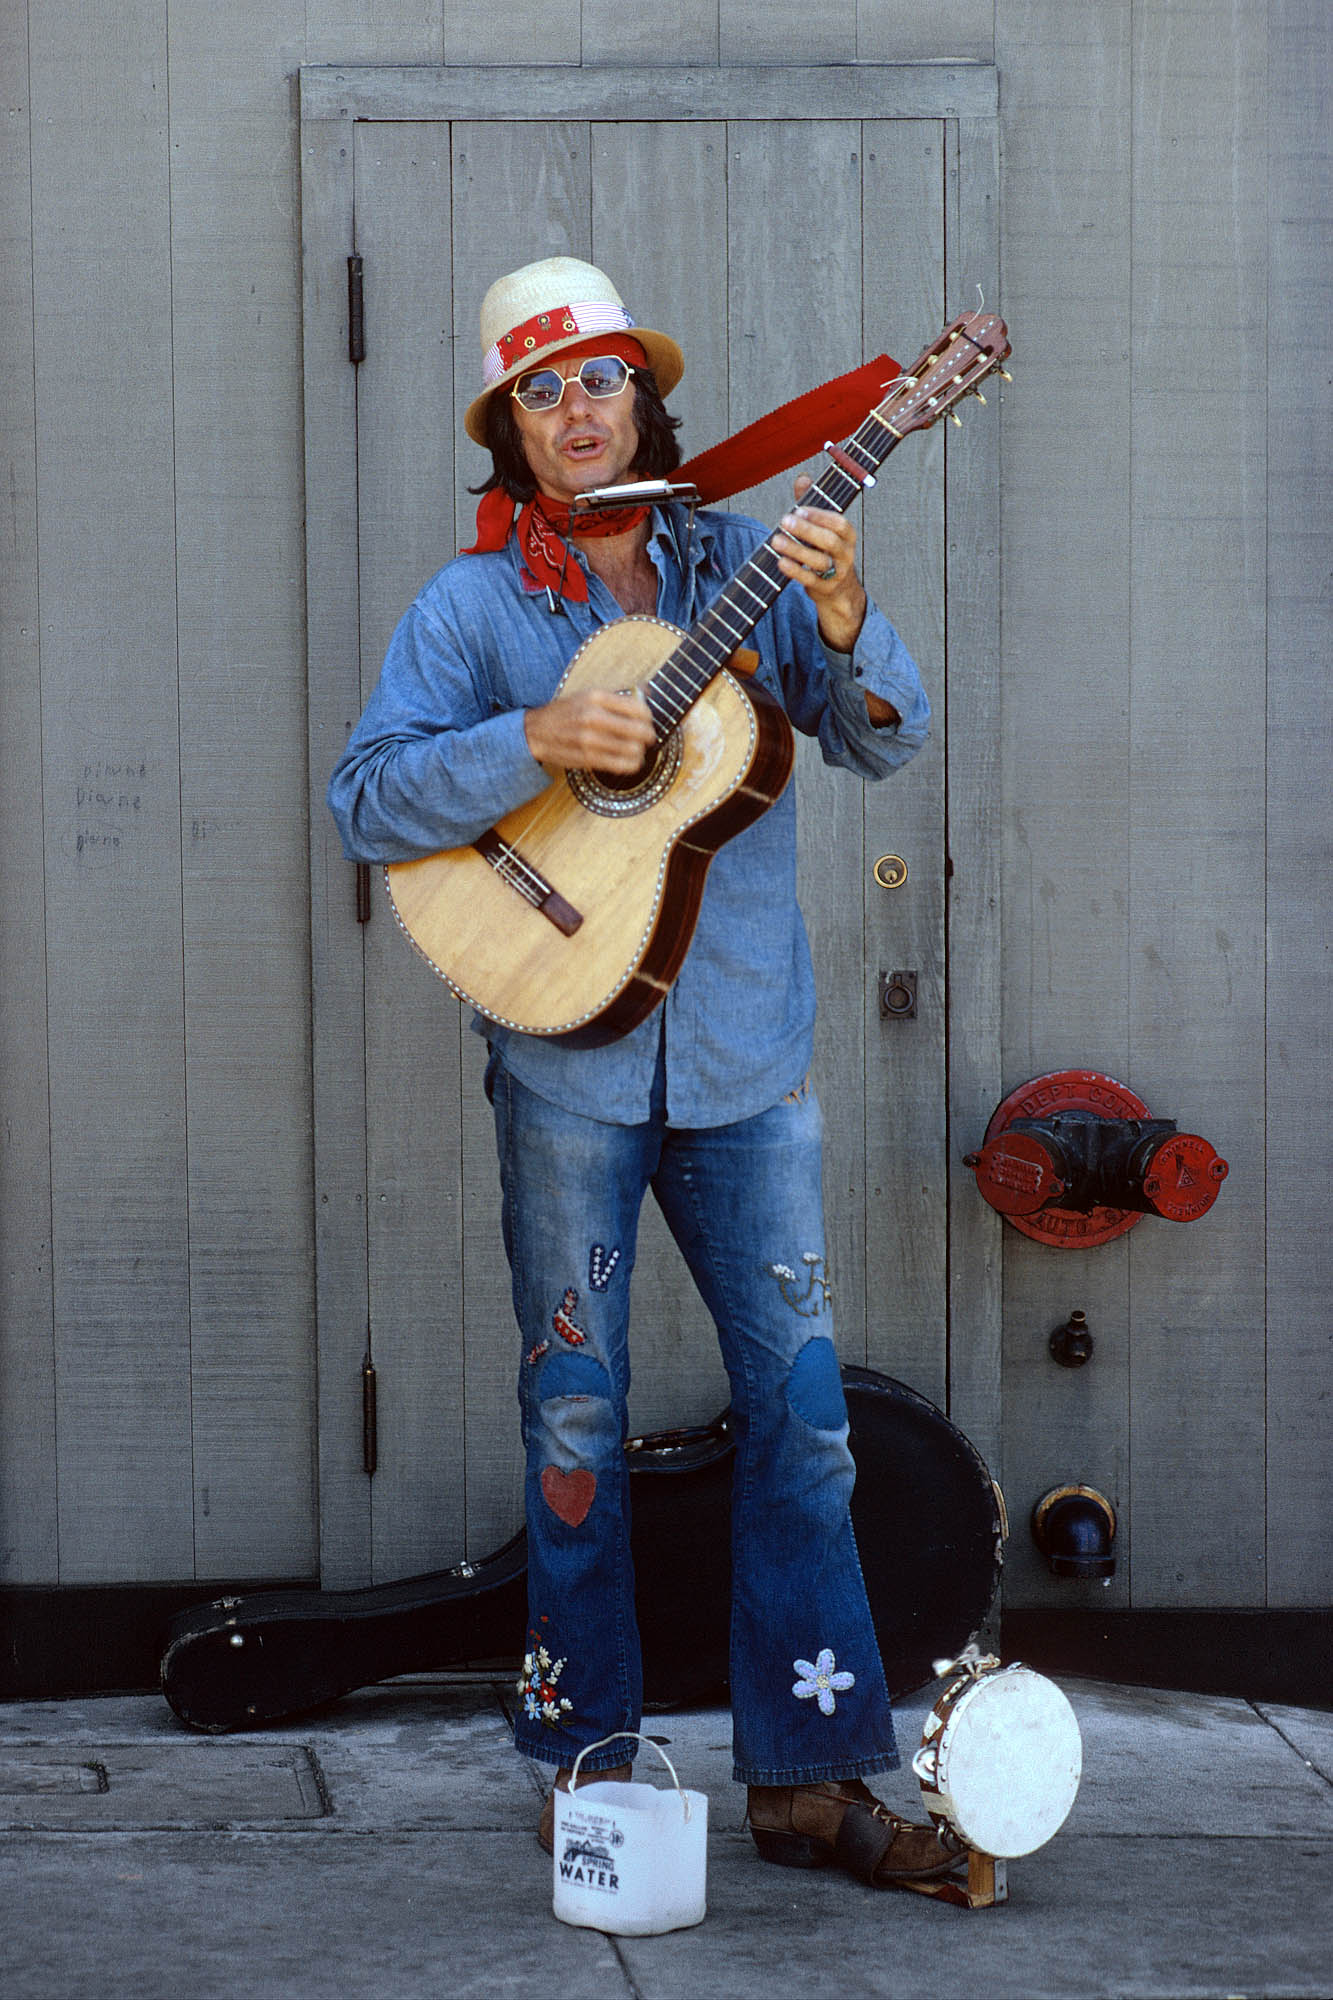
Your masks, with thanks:
M356 128L362 694L394 624L452 556L452 248L446 124ZM458 1004L374 884L366 926L370 1332L378 1374L376 1582L464 1542Z

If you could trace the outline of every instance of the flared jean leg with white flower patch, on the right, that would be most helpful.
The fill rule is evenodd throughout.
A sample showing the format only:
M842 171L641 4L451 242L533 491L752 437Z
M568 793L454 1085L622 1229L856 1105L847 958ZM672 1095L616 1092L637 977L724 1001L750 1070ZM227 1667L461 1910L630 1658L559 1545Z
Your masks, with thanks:
M821 1154L807 1090L741 1124L669 1132L652 1182L733 1390L731 1700L745 1784L899 1764L849 1512Z

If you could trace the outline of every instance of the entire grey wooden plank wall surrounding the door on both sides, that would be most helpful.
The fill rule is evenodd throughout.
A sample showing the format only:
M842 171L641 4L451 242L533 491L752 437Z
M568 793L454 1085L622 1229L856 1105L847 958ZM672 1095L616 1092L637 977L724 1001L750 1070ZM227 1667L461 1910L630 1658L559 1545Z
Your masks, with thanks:
M650 22L608 0L48 0L0 22L20 80L0 136L4 1580L314 1570L312 1232L366 1218L362 1182L312 1220L294 72L524 62L534 36L550 64L793 58L759 0ZM1023 1526L1071 1476L1133 1518L1111 1602L1333 1586L1313 1498L1327 36L1317 0L823 0L801 22L803 62L1001 70L1001 670L977 652L979 762L951 812L969 776L1003 786L979 908L1003 912L1005 1058L989 1078L955 1052L953 1152L979 1136L969 1104L981 1126L991 1090L1091 1062L1233 1160L1189 1230L1145 1222L1095 1256L1003 1232L1015 1602L1077 1600ZM332 358L326 382L350 392ZM310 634L350 702L360 660L320 654L344 582ZM350 1130L364 1076L342 1082ZM969 1298L1001 1268L967 1198L961 1408L987 1366L959 1348ZM1045 1338L1071 1306L1099 1350L1059 1376ZM354 1324L364 1298L330 1280L322 1308ZM356 1450L352 1390L320 1384L326 1450Z

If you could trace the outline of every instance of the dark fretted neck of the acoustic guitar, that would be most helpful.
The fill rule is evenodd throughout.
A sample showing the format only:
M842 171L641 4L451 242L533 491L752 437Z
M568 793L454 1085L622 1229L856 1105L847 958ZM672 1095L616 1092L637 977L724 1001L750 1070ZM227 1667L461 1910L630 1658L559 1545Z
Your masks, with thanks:
M899 442L901 438L889 422L873 410L843 446L843 454L863 468L865 478L871 478ZM861 486L861 478L829 458L819 480L803 494L801 504L845 514ZM703 618L691 626L671 658L642 688L658 740L679 728L737 646L745 644L765 612L779 600L785 586L787 578L779 570L771 540L763 542L723 584Z

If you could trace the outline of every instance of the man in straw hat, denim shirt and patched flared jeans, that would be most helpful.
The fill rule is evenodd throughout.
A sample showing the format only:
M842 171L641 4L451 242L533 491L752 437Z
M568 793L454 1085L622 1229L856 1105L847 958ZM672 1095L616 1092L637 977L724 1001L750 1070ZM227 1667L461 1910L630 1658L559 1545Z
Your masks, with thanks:
M578 494L679 466L662 396L683 368L590 264L546 258L490 288L466 414L494 462L480 540L406 612L332 774L352 860L464 846L560 770L642 766L642 696L556 694L570 656L626 612L689 626L765 540L759 522L675 502L572 512ZM755 678L827 762L883 778L925 740L927 700L861 586L851 522L803 506L809 484L773 534L797 588L755 630ZM731 1378L733 1746L755 1842L765 1860L901 1882L953 1864L865 1786L899 1756L849 1516L795 812L789 786L719 850L675 986L622 1040L576 1048L474 1022L520 1328L530 1630L514 1738L558 1786L586 1746L584 1776L628 1776L626 1320L650 1186ZM550 1800L540 1832L548 1844Z

